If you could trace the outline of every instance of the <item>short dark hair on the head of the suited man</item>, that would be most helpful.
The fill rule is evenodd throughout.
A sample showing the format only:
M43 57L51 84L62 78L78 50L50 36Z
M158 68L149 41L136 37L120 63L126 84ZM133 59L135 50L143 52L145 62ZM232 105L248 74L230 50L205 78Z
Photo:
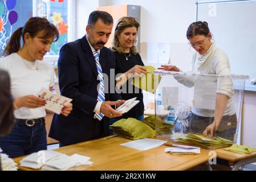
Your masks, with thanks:
M92 11L89 15L88 26L94 27L98 19L101 19L105 24L113 23L113 18L109 13L105 11Z

